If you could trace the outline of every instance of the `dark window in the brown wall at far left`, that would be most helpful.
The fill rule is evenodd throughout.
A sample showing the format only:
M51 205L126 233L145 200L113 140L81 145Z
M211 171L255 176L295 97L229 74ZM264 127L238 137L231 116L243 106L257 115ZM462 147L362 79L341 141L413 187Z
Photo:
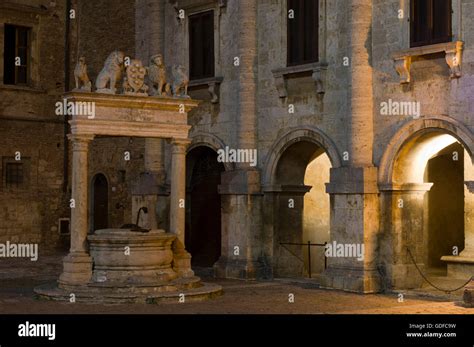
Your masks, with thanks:
M30 28L5 24L4 84L28 84Z

